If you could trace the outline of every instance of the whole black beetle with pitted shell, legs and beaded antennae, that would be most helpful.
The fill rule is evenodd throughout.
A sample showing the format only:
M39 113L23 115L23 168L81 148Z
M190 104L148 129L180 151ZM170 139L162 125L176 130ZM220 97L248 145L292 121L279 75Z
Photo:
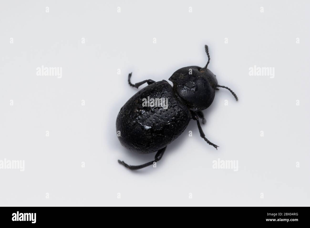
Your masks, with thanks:
M205 123L201 111L212 104L218 87L228 89L237 101L238 98L231 89L217 84L215 75L207 69L210 62L207 45L205 49L208 56L206 66L178 69L169 78L173 87L166 80L155 82L148 79L132 84L132 73L128 75L130 86L138 88L144 83L148 86L132 96L119 111L116 119L116 131L120 133L118 139L136 153L157 153L154 161L143 165L132 166L120 160L118 163L135 170L159 161L167 145L181 135L191 119L197 121L201 138L217 149L218 146L210 142L201 129L199 118Z

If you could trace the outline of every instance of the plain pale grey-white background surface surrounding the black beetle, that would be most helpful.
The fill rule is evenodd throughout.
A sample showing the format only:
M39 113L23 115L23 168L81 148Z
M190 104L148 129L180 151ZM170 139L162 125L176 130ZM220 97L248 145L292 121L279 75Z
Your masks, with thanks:
M309 7L307 1L2 1L0 160L24 160L25 171L0 169L0 205L309 206ZM157 168L132 172L119 165L117 159L138 165L155 155L127 151L116 136L116 116L137 92L128 73L136 83L203 67L205 44L208 68L239 97L220 89L204 110L203 131L219 149L191 121ZM62 67L62 78L37 76L41 65ZM249 76L254 65L274 67L275 77ZM238 160L239 170L213 169L217 159Z

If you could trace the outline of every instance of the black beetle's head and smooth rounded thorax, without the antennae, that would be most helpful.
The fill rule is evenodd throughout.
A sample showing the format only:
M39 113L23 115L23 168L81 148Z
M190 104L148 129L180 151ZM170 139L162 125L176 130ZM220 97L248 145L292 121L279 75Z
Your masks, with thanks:
M214 99L217 80L207 68L188 66L175 71L169 80L175 95L194 112L208 108Z

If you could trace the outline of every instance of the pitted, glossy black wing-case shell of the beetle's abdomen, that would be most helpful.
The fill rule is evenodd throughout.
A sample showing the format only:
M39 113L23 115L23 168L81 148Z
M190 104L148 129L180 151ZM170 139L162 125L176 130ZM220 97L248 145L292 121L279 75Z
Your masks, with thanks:
M167 98L164 107L143 107L143 98ZM123 146L139 154L153 153L175 140L187 127L192 115L175 96L171 85L162 80L144 87L121 108L116 119Z

